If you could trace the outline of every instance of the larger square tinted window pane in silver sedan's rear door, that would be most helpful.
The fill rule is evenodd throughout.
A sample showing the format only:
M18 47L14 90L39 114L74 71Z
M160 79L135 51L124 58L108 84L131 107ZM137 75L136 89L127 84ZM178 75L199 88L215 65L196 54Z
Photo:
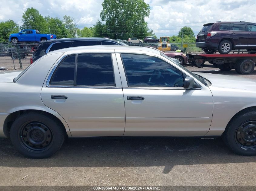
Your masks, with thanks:
M76 83L83 86L115 86L111 54L79 54Z

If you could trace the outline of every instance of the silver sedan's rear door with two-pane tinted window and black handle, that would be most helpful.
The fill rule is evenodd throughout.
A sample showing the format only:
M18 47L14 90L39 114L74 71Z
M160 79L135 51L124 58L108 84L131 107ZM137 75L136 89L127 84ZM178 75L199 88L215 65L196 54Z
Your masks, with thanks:
M125 105L114 53L70 55L53 70L42 101L65 119L73 137L123 136Z

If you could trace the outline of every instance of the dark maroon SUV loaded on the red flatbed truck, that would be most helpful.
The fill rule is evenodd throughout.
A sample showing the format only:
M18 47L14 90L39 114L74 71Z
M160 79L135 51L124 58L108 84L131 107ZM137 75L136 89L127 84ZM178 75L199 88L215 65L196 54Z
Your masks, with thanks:
M256 50L256 24L245 21L207 23L198 33L196 46L206 53L218 50L228 54L234 49Z

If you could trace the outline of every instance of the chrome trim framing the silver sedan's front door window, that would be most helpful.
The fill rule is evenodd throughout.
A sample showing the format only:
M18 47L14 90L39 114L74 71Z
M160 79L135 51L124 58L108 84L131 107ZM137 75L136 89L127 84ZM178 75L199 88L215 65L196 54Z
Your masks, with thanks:
M125 71L125 65L124 65L124 62L123 62L123 58L122 58L122 56L121 56L122 53L116 53L116 54L119 54L119 55L120 55L120 58L121 58L121 61L122 61L122 66L123 66L124 72L125 72L125 78L126 78L127 86L128 86L128 87L125 87L125 88L123 88L123 89L151 89L151 90L152 90L152 89L155 89L155 90L201 90L201 89L202 89L202 86L201 86L200 84L198 84L198 82L195 81L195 80L194 80L194 82L195 82L196 84L198 84L198 86L200 86L200 88L186 89L186 88L183 88L183 87L161 87L161 86L160 86L160 87L157 87L157 86L155 86L155 87L144 87L144 86L142 86L142 87L140 87L140 86L136 87L136 86L129 86L128 78L127 78L126 71ZM152 55L152 54L143 54L143 53L123 53L123 54L139 54L139 55L154 56L154 57L156 57L156 58L158 58L158 59L161 59L162 61L166 62L167 64L173 66L173 67L176 68L178 71L180 71L182 74L184 74L184 72L182 72L182 71L181 71L178 67L176 67L175 65L172 65L172 64L170 64L169 62L163 60L162 58L159 58L158 56L155 56L155 55ZM160 55L160 56L161 56L161 55ZM188 75L188 74L185 74L185 75L190 76L190 75ZM185 80L185 79L184 79L184 80Z

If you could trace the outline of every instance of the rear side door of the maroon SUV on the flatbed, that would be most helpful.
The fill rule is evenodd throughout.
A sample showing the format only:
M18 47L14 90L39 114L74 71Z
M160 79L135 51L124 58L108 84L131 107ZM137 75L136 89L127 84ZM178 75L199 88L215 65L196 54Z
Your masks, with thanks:
M249 33L244 23L230 24L230 38L234 42L235 48L246 49L249 39Z

